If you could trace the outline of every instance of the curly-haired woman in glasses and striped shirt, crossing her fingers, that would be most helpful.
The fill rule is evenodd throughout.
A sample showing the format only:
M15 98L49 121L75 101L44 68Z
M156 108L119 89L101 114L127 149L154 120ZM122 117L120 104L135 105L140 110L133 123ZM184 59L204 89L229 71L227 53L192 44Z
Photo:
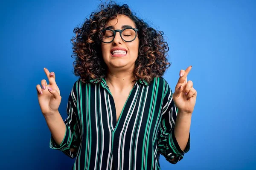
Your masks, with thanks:
M190 147L196 91L180 71L172 93L163 79L169 62L163 33L137 18L128 5L109 3L75 28L74 83L63 122L54 72L37 85L51 131L50 148L75 158L73 169L159 170L162 154L176 164Z

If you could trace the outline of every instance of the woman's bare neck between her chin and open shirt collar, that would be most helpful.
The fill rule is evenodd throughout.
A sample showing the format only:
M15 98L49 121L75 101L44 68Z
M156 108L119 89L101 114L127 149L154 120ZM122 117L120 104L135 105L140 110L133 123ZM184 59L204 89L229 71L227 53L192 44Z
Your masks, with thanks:
M106 75L106 83L109 88L115 89L116 91L122 91L127 88L132 88L135 82L133 71L111 71L108 70Z

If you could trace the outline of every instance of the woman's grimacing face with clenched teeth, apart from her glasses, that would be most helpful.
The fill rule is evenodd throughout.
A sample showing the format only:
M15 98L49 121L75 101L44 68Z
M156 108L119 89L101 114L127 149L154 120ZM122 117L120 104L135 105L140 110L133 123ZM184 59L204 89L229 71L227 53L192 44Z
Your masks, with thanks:
M118 21L117 21L118 20ZM110 20L105 28L112 26L113 30L120 29L122 30L124 26L131 26L132 28L136 28L134 22L125 15L117 16L117 20ZM131 70L134 69L134 63L138 57L139 51L139 39L138 35L135 40L132 42L125 42L120 37L120 33L116 32L116 37L113 42L105 43L102 42L102 57L108 66L108 68L121 68L119 70ZM124 51L116 51L114 48L121 48L119 50ZM114 50L114 53L113 53Z

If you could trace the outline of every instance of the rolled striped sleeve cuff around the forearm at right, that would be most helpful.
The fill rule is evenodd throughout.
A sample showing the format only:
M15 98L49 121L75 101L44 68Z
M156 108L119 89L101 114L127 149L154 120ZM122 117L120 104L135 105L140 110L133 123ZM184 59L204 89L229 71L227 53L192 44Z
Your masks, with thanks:
M189 139L184 151L180 149L180 146L175 138L174 129L172 129L172 132L169 134L169 140L167 143L169 145L169 148L172 149L172 151L176 156L184 155L184 153L187 153L190 149L190 133L189 133Z

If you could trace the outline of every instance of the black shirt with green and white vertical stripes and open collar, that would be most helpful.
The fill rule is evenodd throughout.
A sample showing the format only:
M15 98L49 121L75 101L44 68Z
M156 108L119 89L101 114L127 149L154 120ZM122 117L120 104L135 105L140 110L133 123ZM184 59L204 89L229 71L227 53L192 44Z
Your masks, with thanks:
M175 139L176 117L172 90L163 77L150 84L138 80L117 122L105 79L84 83L80 78L69 95L64 139L58 145L51 136L50 148L76 158L73 170L160 170L160 154L176 164L190 148L190 133L184 151Z

